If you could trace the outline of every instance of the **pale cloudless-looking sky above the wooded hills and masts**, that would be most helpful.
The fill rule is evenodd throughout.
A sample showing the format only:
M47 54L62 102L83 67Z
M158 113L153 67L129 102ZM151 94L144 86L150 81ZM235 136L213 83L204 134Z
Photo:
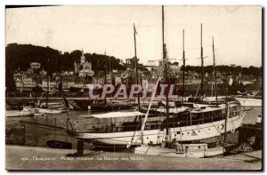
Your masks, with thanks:
M262 66L260 6L165 6L169 59L182 64L182 29L186 64L200 66L203 23L204 65L212 64L212 36L218 65ZM162 58L161 6L53 6L6 9L6 44L49 46L61 52L84 48L142 63ZM173 60L174 61L174 60Z

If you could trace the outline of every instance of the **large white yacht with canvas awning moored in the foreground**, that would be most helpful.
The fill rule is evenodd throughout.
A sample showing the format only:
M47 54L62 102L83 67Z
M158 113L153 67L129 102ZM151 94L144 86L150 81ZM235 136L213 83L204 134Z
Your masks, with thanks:
M163 9L162 9L163 11ZM164 11L162 12L164 14ZM163 15L164 25L164 15ZM164 29L164 28L163 28ZM167 76L166 44L163 31L163 62ZM160 77L158 78L159 82ZM157 86L158 86L157 82ZM151 102L155 97L153 91ZM111 112L84 116L90 123L76 123L69 117L65 131L69 136L91 143L96 147L156 146L171 142L188 144L193 141L221 136L239 128L247 111L239 103L198 105L188 103L188 110L172 114L166 95L165 115L150 115L141 111ZM189 147L189 146L188 146ZM197 146L202 147L202 146Z

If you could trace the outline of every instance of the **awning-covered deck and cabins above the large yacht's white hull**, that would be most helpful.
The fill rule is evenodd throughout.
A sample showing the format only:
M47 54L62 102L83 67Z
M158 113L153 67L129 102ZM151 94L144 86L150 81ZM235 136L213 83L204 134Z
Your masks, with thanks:
M231 104L229 107L229 118L239 115L240 107ZM182 127L198 125L203 123L213 123L224 120L227 109L225 104L215 106L202 106L190 108L182 113L169 115L168 127ZM79 131L91 133L110 133L123 131L141 131L145 114L138 111L132 112L109 112L104 114L85 116L90 119L90 124L79 124ZM149 115L144 130L164 130L166 129L166 115Z

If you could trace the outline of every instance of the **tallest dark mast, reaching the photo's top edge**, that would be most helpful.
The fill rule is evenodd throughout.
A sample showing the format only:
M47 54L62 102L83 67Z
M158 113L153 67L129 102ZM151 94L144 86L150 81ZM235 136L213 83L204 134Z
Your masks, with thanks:
M166 58L166 44L164 38L164 5L162 5L162 44L163 44L163 63L165 63L165 78L166 78L166 138L168 139L169 136L169 99L168 99L168 92L169 92L169 77L168 77L168 70L167 70L167 58Z

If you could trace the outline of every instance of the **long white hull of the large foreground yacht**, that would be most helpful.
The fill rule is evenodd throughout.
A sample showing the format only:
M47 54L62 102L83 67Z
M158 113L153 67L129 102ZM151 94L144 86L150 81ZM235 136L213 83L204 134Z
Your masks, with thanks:
M238 129L245 115L247 115L247 111L229 118L226 128L227 132L234 132ZM175 139L176 141L194 141L217 137L224 133L224 124L225 120L221 120L214 123L170 128L169 139ZM75 130L66 131L71 137L83 139L85 142L93 143L93 145L96 146L101 145L106 147L126 147L129 144L138 146L142 144L142 140L144 145L161 144L166 140L166 130L160 129L143 131L142 139L140 137L141 131L135 131L135 133L134 131L108 133L80 132Z

